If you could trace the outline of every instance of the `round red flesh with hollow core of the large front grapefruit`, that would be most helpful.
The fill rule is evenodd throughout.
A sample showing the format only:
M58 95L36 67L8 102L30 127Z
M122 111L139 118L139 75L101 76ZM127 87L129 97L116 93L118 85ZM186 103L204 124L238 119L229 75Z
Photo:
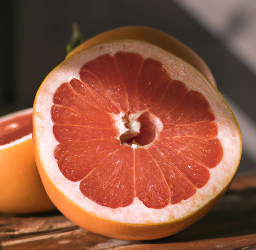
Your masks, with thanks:
M85 197L159 209L208 183L223 149L202 93L137 53L105 54L79 75L58 87L51 117L58 167Z

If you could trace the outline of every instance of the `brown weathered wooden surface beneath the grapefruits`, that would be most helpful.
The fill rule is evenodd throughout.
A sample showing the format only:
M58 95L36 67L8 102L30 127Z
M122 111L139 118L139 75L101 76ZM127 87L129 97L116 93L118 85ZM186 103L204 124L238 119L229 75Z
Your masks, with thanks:
M60 212L0 216L0 249L256 250L256 173L237 175L199 222L158 240L125 241L79 228Z

